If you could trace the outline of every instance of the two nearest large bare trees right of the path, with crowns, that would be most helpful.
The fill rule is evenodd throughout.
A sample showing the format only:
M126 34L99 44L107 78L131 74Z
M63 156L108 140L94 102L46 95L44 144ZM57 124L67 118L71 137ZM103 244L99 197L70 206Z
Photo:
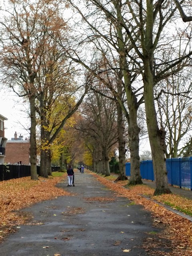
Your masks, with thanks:
M166 131L163 122L158 123L154 88L190 66L192 51L190 40L186 40L190 39L190 24L178 29L175 21L179 13L184 21L191 17L184 14L177 0L69 2L78 12L76 19L79 17L79 20L75 25L81 24L84 31L76 36L76 41L87 48L89 43L91 49L89 58L85 58L83 51L71 46L69 56L98 81L99 86L94 89L104 86L111 90L126 116L130 184L142 183L138 109L144 103L156 179L155 194L170 193L165 164ZM190 3L188 7L191 8Z

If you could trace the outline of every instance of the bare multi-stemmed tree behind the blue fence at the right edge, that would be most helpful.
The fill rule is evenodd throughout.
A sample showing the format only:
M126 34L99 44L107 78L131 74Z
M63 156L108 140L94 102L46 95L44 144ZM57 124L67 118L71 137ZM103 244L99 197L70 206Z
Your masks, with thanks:
M155 88L159 122L166 131L166 158L185 155L185 149L191 144L191 86L190 68L186 67Z

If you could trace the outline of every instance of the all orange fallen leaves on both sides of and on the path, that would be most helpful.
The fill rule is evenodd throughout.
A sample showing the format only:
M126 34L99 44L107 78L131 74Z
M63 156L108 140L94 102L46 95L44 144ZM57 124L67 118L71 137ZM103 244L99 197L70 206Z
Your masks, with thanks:
M106 178L98 176L97 174L93 174L92 172L90 173L110 190L114 190L117 193L117 196L129 198L136 204L140 204L144 206L146 210L152 212L157 225L160 225L160 223L166 225L166 229L162 233L158 234L158 236L171 240L172 252L164 253L157 250L151 251L150 247L146 246L147 252L150 251L152 255L192 256L192 222L170 212L163 206L160 206L152 200L148 200L142 196L149 195L152 197L154 193L152 188L143 185L136 185L126 189L123 186L127 184L127 181L114 183ZM22 214L19 211L21 208L25 208L42 200L57 198L58 196L71 196L72 194L69 192L55 186L58 182L64 179L64 176L54 177L47 180L44 180L43 178L40 178L39 180L30 180L30 177L25 177L0 182L0 240L4 239L4 237L10 232L18 232L15 226L25 224L32 218L30 214L28 214L29 216L26 216L26 213ZM43 186L42 182L44 182ZM162 195L154 198L161 202L168 201L182 208L192 208L191 200L186 200L186 198L181 198L174 194ZM104 197L85 199L100 202L114 201L114 198ZM72 212L74 214L83 212L80 208L68 210L68 212ZM64 212L64 214L65 213L66 212ZM38 225L39 223L33 224ZM67 238L66 240L69 239L70 238ZM155 247L154 240L152 240L151 246L153 245Z

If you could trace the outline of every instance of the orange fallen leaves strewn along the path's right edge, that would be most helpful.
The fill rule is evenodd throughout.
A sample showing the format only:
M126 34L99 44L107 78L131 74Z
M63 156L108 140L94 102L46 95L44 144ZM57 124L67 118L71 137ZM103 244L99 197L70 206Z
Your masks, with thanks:
M124 196L133 200L136 204L144 206L146 210L152 212L156 220L166 225L166 229L159 235L172 241L172 252L166 252L167 256L192 256L192 222L178 216L177 214L167 210L152 200L144 198L143 195L153 195L154 190L147 186L136 185L130 186L128 189L123 186L126 182L111 182L105 178L90 172L102 184L115 191L118 196ZM174 198L174 197L173 197ZM160 225L160 224L158 224ZM164 253L164 252L162 252ZM154 255L165 255L156 252Z

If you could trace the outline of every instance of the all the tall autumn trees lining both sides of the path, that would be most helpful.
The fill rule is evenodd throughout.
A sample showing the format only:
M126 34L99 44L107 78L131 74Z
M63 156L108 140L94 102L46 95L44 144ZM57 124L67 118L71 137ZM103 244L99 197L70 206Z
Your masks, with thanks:
M186 74L191 65L192 30L190 23L176 26L180 16L184 22L192 20L185 15L191 4L183 9L178 0L5 2L0 18L1 80L30 104L32 179L37 178L36 114L41 175L47 177L51 145L92 90L86 95L76 130L92 155L94 170L110 174L109 154L118 142L119 179L126 178L127 131L130 184L142 183L139 141L143 124L138 117L145 111L155 194L170 193L165 156L191 152L190 139L182 148L179 145L191 124L186 100L191 85ZM64 20L69 13L71 18Z

